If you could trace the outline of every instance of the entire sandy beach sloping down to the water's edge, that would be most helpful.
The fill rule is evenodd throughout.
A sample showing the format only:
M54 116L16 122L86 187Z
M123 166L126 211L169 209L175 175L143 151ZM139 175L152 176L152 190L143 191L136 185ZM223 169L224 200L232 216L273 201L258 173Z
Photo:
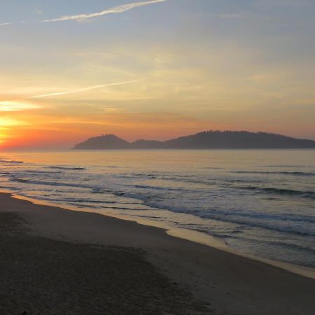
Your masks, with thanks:
M0 218L0 314L314 314L314 279L160 228L6 193Z

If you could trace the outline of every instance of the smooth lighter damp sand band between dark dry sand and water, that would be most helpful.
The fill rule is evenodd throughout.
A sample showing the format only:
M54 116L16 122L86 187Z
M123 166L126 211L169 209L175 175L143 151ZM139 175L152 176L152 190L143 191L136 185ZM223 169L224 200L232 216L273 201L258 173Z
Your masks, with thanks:
M102 214L38 205L8 193L0 193L0 205L0 212L25 219L32 235L144 249L149 262L197 299L211 303L218 311L214 314L313 314L314 279Z

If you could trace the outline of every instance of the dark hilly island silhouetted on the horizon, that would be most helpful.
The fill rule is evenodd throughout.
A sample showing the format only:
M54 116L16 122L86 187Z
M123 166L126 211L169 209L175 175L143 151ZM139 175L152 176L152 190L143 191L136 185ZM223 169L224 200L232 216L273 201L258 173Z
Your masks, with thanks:
M128 142L114 134L106 134L87 139L74 146L73 150L237 148L315 148L315 141L266 132L211 130L167 141L137 140Z

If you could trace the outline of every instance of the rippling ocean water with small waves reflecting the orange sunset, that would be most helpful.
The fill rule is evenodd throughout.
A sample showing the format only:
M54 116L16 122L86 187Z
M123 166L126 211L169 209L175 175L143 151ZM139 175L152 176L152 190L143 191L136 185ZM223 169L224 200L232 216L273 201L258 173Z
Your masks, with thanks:
M315 267L315 150L3 152L0 190Z

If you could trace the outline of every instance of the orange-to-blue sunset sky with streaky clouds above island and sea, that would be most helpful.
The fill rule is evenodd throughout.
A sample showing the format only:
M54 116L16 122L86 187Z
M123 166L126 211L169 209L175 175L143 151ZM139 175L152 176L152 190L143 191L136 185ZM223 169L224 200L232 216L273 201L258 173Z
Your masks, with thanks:
M0 149L315 139L314 0L0 0Z

